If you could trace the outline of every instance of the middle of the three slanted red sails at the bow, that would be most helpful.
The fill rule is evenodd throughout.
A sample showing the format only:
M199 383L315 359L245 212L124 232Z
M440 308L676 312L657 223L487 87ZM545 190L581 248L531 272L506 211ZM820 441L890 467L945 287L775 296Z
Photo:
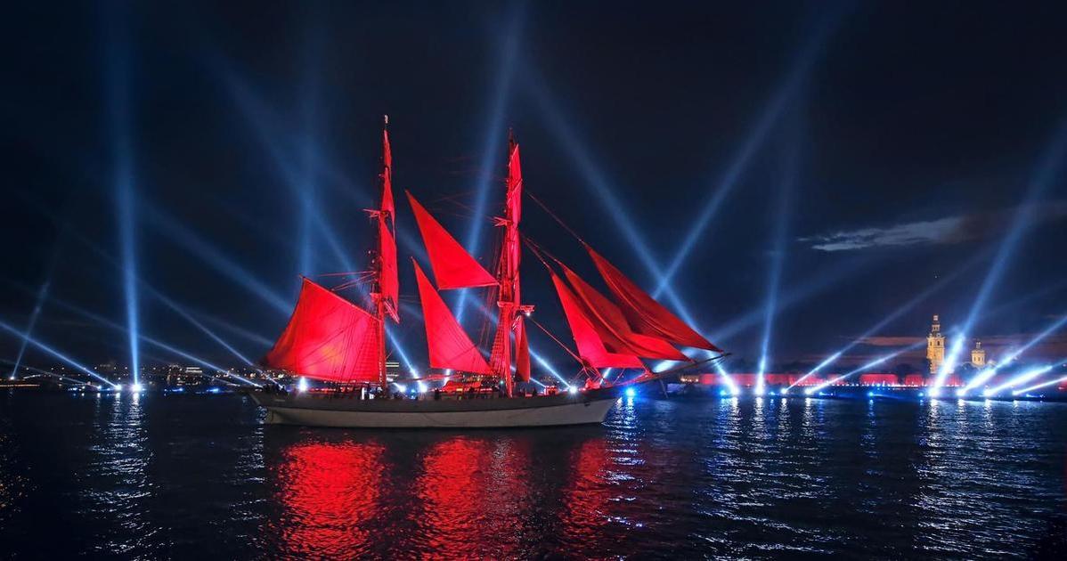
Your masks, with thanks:
M634 333L626 318L610 300L596 291L574 271L560 263L568 283L574 289L586 317L609 350L644 358L688 360L678 349L660 338Z

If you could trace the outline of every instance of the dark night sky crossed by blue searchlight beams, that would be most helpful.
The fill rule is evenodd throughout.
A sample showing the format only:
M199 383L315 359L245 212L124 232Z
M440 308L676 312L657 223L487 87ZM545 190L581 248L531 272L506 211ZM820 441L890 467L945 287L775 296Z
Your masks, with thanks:
M318 275L366 267L385 113L409 305L402 190L489 262L510 127L528 192L635 280L654 291L678 260L662 301L736 369L760 357L768 294L776 368L860 336L849 358L874 356L933 314L951 337L972 309L996 357L1067 314L1065 4L732 4L7 5L0 320L25 331L47 283L35 339L128 360L100 321L127 321L125 185L141 332L240 365L161 293L261 357L300 274L336 285ZM599 284L530 199L524 230ZM527 256L523 274L569 341L543 268ZM420 323L396 334L425 365ZM1032 355L1067 354L1049 341ZM0 359L19 343L0 333Z

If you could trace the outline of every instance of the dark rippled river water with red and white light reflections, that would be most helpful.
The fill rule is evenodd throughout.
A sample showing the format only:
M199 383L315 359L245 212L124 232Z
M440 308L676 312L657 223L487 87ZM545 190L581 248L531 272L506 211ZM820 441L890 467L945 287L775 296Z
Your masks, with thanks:
M0 557L1039 558L1067 404L620 401L604 426L267 427L239 396L0 395Z

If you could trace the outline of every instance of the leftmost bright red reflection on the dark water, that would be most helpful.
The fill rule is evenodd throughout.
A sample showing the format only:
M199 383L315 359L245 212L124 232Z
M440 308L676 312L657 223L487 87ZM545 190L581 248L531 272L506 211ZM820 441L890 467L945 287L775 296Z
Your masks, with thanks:
M330 557L367 551L383 471L377 444L301 444L287 450L280 470L287 549Z

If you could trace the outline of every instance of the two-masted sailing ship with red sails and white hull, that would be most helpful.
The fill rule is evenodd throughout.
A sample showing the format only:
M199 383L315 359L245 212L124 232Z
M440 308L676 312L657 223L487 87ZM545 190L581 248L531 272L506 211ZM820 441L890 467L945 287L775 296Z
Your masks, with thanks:
M653 373L643 360L680 360L684 368L723 356L719 348L656 302L580 238L577 239L610 296L524 235L520 229L522 165L519 144L512 137L504 212L494 219L501 238L495 255L495 274L482 267L407 192L434 279L430 280L413 257L431 372L415 382L423 385L444 381L445 386L416 398L391 392L386 379L385 326L391 321L400 322L400 283L387 126L386 117L382 131L380 204L368 210L377 230L377 249L372 252L370 271L362 277L369 287L366 302L361 305L338 293L354 282L329 289L303 278L292 316L264 363L274 370L321 381L328 388L252 394L267 408L268 423L376 428L600 423L627 384L664 375ZM548 270L574 349L530 318L534 306L523 302L520 283L524 246ZM444 290L471 288L488 290L487 300L496 303L495 314L488 307L481 308L493 333L488 359L441 296ZM567 390L523 389L531 380L527 338L530 324L544 330L577 363L574 381ZM719 354L698 363L679 348ZM639 371L636 376L635 370ZM609 380L608 371L615 371L615 378ZM459 391L450 390L457 386Z

